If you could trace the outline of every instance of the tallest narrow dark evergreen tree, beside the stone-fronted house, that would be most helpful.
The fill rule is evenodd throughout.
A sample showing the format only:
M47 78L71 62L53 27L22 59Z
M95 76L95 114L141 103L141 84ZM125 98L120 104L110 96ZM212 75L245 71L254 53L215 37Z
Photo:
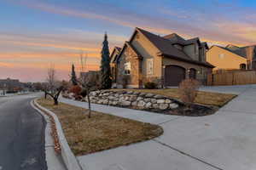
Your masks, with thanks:
M111 88L111 72L110 72L110 59L108 49L108 36L105 33L104 41L102 42L102 63L101 63L101 88Z

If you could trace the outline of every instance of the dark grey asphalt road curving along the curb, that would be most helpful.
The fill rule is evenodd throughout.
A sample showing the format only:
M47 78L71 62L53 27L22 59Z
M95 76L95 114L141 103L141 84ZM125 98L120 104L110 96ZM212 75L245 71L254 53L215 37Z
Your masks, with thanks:
M30 105L34 97L0 98L0 170L47 169L45 122Z

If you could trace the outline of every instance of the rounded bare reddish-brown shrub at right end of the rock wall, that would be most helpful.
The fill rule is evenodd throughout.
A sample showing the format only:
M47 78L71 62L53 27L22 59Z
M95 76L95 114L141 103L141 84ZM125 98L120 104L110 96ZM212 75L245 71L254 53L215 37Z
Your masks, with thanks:
M200 88L200 82L195 79L185 79L179 84L180 99L187 107L190 108L194 104L198 88Z

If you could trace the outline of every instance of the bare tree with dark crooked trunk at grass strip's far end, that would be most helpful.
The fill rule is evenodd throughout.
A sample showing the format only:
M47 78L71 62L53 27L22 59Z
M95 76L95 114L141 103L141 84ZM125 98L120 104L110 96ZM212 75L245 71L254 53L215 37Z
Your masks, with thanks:
M44 98L49 95L52 99L54 99L54 105L58 105L58 99L63 87L61 86L61 83L57 81L55 72L54 65L50 65L46 77L47 86L44 88Z

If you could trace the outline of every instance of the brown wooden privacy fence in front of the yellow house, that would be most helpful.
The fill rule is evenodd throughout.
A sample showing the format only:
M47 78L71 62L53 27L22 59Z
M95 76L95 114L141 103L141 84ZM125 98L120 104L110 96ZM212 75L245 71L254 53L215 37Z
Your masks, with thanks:
M208 86L256 84L256 71L232 71L207 76Z

